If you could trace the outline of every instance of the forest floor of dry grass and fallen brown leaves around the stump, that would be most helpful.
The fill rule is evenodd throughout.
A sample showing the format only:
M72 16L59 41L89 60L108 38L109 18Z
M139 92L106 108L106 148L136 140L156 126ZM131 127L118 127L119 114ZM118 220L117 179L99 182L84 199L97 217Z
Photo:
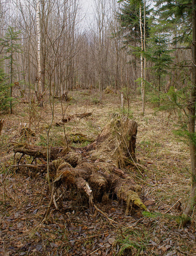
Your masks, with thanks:
M89 91L69 95L69 102L61 104L55 99L49 133L52 146L66 146L64 134L70 140L72 132L96 138L111 113L127 114L127 106L122 113L116 94L104 94L101 104ZM191 184L189 147L173 132L177 130L177 112L156 111L147 103L142 115L140 99L130 100L129 116L138 123L136 157L140 169L132 170L132 175L142 186L142 197L153 201L149 206L151 214L137 210L126 216L126 207L117 198L97 203L118 223L111 225L95 209L90 210L79 193L67 192L62 207L56 210L53 205L47 223L39 224L50 200L46 173L9 167L14 164L12 148L16 143L47 145L52 114L49 102L40 108L23 103L26 100L18 98L14 113L4 115L0 136L0 255L196 255L195 215L187 227L180 223ZM62 109L65 115L92 115L70 120L65 127L55 126L62 119ZM30 124L34 137L23 136L20 123ZM17 153L15 163L19 157ZM31 163L31 159L26 156L20 163Z

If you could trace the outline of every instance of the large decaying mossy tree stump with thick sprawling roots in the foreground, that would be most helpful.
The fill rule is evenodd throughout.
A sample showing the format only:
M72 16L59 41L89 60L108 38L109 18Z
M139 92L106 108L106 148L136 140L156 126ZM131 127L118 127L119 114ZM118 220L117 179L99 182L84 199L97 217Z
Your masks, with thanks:
M53 183L44 221L52 203L57 208L55 193L62 184L66 185L67 190L77 189L82 197L89 200L89 206L98 211L96 202L111 195L126 203L126 213L134 205L147 210L140 199L141 186L124 169L127 165L135 164L136 133L137 123L134 120L113 116L101 134L88 146L51 147L49 168ZM45 160L47 157L46 148L40 146L20 146L14 148L14 152ZM34 169L43 170L44 167L35 166Z

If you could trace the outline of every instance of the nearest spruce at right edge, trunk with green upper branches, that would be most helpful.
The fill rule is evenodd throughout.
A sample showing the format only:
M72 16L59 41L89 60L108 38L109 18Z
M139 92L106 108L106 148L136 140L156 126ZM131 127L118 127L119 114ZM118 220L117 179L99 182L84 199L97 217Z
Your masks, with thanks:
M192 49L192 59L190 62L192 68L192 77L190 79L190 92L187 104L189 112L189 148L191 158L191 193L184 210L186 217L183 224L188 221L196 204L196 143L195 143L195 107L196 107L196 0L178 0L178 1L157 1L159 17L165 23L176 24L179 28L177 40L185 44L190 42Z

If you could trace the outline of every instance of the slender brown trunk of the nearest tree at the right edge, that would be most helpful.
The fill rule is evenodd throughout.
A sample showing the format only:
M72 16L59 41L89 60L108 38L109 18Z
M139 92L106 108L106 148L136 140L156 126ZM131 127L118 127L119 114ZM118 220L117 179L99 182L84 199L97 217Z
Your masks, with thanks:
M190 93L190 108L189 108L189 133L190 133L190 158L191 158L191 194L184 211L185 216L189 216L193 212L196 203L196 146L194 142L195 136L195 102L196 102L196 0L192 1L192 88ZM186 219L183 224L186 224Z

